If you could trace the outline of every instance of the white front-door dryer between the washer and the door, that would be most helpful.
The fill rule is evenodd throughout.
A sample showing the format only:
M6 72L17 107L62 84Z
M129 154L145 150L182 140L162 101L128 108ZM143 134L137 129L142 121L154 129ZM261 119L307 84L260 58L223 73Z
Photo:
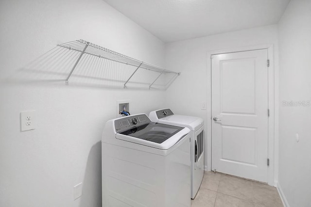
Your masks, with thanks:
M188 127L191 130L191 198L194 199L204 175L204 120L174 114L170 109L151 111L149 118L153 122Z

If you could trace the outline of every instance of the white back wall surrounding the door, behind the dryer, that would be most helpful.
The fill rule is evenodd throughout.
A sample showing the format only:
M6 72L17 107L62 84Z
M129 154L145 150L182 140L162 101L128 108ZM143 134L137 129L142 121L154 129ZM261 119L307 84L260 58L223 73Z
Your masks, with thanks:
M211 102L211 72L207 54L210 51L216 50L243 50L253 46L273 45L275 51L274 66L277 77L277 44L277 25L270 25L174 42L166 45L166 67L168 69L176 68L176 70L181 72L180 77L178 77L167 90L166 106L171 108L175 113L199 116L205 120L207 131L207 170L210 170L209 149L211 124L211 109L209 104ZM203 101L207 102L206 111L201 110ZM277 160L275 161L277 162ZM277 169L275 169L275 171L276 178Z

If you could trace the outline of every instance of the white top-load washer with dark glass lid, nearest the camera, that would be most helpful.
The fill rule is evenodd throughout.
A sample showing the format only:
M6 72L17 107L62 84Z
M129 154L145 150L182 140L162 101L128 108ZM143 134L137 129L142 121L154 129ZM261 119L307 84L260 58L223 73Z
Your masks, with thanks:
M146 114L109 120L102 135L103 207L190 207L189 132Z

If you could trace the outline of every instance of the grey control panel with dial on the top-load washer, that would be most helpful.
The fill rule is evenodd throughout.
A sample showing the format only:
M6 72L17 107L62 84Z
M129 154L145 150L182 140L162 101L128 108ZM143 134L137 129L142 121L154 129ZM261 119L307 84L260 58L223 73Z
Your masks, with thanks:
M149 124L150 122L151 121L146 114L125 116L115 120L115 129L117 133L120 133L131 128Z

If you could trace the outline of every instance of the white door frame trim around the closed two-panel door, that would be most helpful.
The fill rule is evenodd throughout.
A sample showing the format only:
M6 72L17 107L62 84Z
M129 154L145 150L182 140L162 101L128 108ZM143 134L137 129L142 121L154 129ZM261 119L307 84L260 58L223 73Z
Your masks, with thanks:
M268 158L270 161L268 167L268 184L276 187L278 175L278 71L276 71L277 67L275 67L274 45L258 45L207 51L207 75L209 76L207 77L207 81L209 81L207 82L207 86L210 87L210 90L207 90L207 103L211 103L211 55L256 49L268 49L268 59L270 60L268 68L268 107L270 110L270 116L268 118ZM207 142L205 144L207 149L207 165L205 166L205 170L207 171L211 171L211 124L210 105L210 108L207 109Z

